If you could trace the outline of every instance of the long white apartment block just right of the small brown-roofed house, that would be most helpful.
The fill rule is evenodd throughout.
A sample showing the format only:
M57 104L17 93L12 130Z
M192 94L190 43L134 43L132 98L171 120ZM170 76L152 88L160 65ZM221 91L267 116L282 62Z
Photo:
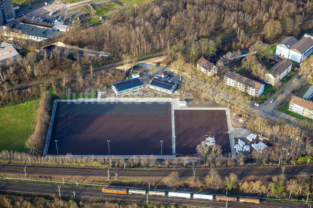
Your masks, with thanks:
M229 70L224 74L224 84L237 88L254 97L260 97L264 92L264 84Z

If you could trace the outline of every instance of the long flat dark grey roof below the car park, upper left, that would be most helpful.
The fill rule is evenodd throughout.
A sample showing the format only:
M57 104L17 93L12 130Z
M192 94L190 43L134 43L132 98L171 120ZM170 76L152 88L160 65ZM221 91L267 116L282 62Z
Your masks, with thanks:
M15 28L12 29L12 32L21 31L23 34L27 34L35 37L51 38L63 35L64 32L54 31L51 29L45 29L42 27L36 27L25 24L17 24Z

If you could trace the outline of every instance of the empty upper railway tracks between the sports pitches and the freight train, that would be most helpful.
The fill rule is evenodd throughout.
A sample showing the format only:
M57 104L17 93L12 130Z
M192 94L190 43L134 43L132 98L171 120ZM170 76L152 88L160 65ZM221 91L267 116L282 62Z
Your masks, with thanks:
M25 166L18 165L0 165L0 174L20 175L24 174ZM261 167L221 167L215 168L221 176L228 176L230 173L235 173L239 177L243 176L260 176L260 175L279 175L282 173L281 167L278 166L261 166ZM70 176L94 176L103 177L107 175L108 169L97 168L75 168L75 167L47 167L47 166L26 166L27 175L70 175ZM125 177L164 177L168 176L171 172L177 171L181 177L193 176L192 169L178 168L178 169L164 169L158 168L153 170L138 170L138 169L123 169L123 168L110 168L110 173L117 173L118 176ZM210 171L209 168L196 168L197 177L205 177ZM299 166L285 166L284 174L294 176L303 174L313 174L313 166L299 165Z

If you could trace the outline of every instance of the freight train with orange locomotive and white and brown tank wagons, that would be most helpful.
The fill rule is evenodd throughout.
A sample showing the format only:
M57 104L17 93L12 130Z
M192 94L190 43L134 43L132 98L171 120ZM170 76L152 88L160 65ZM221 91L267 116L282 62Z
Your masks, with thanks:
M250 197L237 197L235 196L213 196L207 194L191 194L186 192L165 192L165 191L145 191L139 189L127 189L126 188L115 188L111 186L104 186L102 192L105 193L116 193L116 194L138 194L138 195L149 195L149 196L169 196L169 197L180 197L186 199L206 199L206 200L217 200L217 201L238 201L238 202L249 202L249 203L260 203L259 198Z

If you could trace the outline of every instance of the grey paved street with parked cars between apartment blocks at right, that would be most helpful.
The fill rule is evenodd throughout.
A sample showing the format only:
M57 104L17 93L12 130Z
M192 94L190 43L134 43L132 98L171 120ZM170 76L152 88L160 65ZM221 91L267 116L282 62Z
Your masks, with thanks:
M299 76L299 72L295 74L293 78L291 78L283 87L281 87L279 90L277 90L272 97L270 97L267 101L262 103L259 107L255 106L253 103L252 106L252 112L257 114L262 114L266 117L272 118L276 120L278 118L277 115L274 114L273 110L278 106L279 99L276 99L273 103L270 103L270 101L277 96L280 92L282 92L283 95L285 95L285 99L290 101L293 94L290 94L292 90L294 90L294 79ZM298 80L300 86L303 86L307 83L304 76L301 76ZM288 124L292 124L290 121L286 121Z

